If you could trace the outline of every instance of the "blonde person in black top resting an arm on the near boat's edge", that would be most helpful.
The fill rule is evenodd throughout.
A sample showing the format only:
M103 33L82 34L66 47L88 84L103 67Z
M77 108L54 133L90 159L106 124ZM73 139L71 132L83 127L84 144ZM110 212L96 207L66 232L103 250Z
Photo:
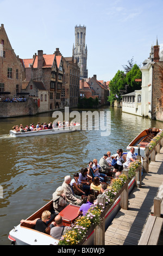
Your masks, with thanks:
M36 218L33 221L21 220L22 223L27 223L30 225L35 225L35 230L40 231L42 233L50 234L51 227L48 226L48 222L51 220L51 212L43 211L41 218ZM55 224L52 222L52 224Z

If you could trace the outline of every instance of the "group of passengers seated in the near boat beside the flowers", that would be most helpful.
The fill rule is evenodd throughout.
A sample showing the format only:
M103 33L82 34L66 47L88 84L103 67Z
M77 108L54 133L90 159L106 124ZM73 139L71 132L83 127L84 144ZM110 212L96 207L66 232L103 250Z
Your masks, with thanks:
M130 163L136 161L135 149L130 148L127 154L123 154L122 149L118 149L114 156L110 151L104 154L99 163L97 159L90 161L88 167L84 167L80 172L66 175L64 182L53 193L53 210L43 211L41 218L33 221L21 220L21 223L34 224L37 231L47 233L55 239L65 233L67 227L62 222L59 213L66 208L68 204L79 205L78 216L85 215L86 212L97 200L97 196L109 187L109 178L119 178L123 172L123 166L127 167ZM116 160L116 164L112 166L112 160ZM114 175L112 175L114 174ZM49 223L51 223L49 225Z

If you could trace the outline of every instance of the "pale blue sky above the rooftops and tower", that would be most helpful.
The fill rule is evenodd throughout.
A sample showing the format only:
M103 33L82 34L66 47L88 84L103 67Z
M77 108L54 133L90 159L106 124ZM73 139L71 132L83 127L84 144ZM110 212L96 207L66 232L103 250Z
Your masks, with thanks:
M110 81L128 60L142 65L163 46L163 0L0 0L0 26L22 59L38 50L71 57L75 26L86 26L88 76Z

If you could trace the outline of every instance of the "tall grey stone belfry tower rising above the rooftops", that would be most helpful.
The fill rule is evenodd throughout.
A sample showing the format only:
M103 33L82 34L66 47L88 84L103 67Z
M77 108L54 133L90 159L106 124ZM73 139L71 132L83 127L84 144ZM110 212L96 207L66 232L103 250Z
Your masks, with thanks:
M75 47L73 44L72 55L77 59L80 68L80 78L87 78L87 46L85 45L86 27L75 27Z

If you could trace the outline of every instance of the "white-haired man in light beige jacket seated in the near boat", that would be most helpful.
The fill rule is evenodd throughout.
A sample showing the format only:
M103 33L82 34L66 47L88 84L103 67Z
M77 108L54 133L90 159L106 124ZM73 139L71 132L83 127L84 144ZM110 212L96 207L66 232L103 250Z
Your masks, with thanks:
M81 200L76 196L74 196L70 182L71 182L70 175L65 176L65 181L62 183L62 187L64 188L64 193L66 195L67 202L72 204L80 204Z

